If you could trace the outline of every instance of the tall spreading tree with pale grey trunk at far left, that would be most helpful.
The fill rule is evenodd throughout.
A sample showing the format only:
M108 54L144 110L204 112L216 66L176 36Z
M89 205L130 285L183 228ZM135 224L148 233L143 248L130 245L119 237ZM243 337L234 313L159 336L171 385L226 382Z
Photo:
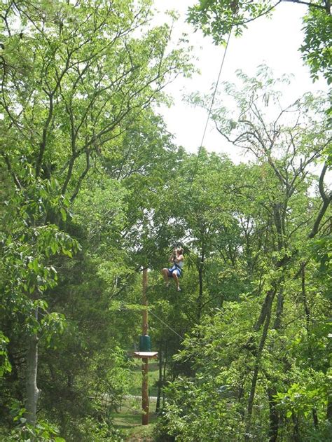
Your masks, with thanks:
M48 313L57 279L53 257L78 249L65 231L69 207L132 120L164 99L168 81L191 71L183 48L167 50L170 27L153 28L150 18L150 1L129 0L9 2L1 14L1 167L12 183L3 244L8 268L18 262L15 274L4 277L3 296L17 303L6 314L24 313L16 319L30 349L26 408L32 425L39 329L45 323L51 331L48 322L58 318Z

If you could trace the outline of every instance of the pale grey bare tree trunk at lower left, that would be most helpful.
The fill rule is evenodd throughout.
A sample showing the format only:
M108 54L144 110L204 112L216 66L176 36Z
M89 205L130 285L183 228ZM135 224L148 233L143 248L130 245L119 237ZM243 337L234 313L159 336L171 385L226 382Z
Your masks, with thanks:
M29 336L27 349L27 378L25 404L27 423L34 427L36 425L37 403L40 390L37 387L37 368L38 368L38 336L36 334Z

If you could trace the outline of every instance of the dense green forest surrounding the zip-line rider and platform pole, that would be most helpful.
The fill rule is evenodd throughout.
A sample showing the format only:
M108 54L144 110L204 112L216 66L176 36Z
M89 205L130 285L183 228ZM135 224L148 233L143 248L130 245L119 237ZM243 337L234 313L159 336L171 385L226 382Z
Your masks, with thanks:
M300 54L330 85L331 5L307 5ZM187 20L227 48L274 8L195 0ZM331 96L239 70L186 100L243 160L188 152L158 109L193 48L153 11L1 1L0 441L331 440ZM130 436L144 269L156 399Z

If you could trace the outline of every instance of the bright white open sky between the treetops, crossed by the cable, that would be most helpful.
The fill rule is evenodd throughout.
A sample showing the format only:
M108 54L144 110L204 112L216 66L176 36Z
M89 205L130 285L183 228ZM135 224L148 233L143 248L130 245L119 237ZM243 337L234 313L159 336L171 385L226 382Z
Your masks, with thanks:
M203 37L201 32L194 32L193 27L185 22L188 6L195 3L195 0L155 0L155 8L159 11L155 15L156 23L165 21L165 11L179 11L180 18L174 26L175 38L181 32L188 33L189 44L194 47L193 55L198 57L195 65L200 74L194 74L191 79L177 78L167 86L166 92L172 95L174 104L170 109L166 106L159 109L167 129L174 134L174 142L184 146L189 152L198 151L207 111L186 104L183 97L191 92L207 93L211 90L212 84L216 82L224 52L223 46L215 46L212 39ZM289 104L307 91L327 92L324 79L312 83L309 69L303 65L298 50L303 42L301 18L306 11L306 6L284 2L277 6L272 18L259 18L249 23L248 29L244 30L241 37L231 36L220 83L234 81L237 69L254 75L258 65L265 63L272 68L275 76L295 76L284 97L289 99ZM212 123L209 123L203 144L208 151L227 153L235 162L245 160L243 153L223 141Z

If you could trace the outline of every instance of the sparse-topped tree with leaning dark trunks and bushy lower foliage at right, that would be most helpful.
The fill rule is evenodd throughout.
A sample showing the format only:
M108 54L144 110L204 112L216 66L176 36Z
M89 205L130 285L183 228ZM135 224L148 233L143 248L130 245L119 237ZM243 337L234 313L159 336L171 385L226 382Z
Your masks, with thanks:
M314 237L331 232L326 165L319 178L310 173L328 143L324 98L307 95L286 107L266 69L255 78L239 75L243 88L228 84L223 92L237 111L219 103L212 118L223 137L256 158L238 167L228 190L244 239L238 259L248 289L186 338L177 359L195 371L170 385L162 423L180 441L193 434L234 440L235 427L239 440L276 441L283 426L289 440L323 438L330 407L327 285L314 285L319 276L309 250ZM286 112L291 116L284 118ZM205 416L200 422L197 408Z

